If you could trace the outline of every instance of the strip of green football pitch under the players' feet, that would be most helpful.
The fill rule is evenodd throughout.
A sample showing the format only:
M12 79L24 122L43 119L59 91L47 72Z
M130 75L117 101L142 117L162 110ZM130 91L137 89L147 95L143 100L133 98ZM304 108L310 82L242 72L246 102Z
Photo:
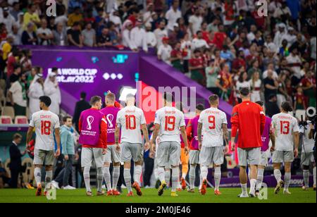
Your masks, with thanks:
M213 194L213 189L208 188L206 195L198 192L178 192L179 197L170 197L170 190L166 190L163 196L157 195L156 189L142 189L142 197L135 194L134 197L126 197L127 190L117 197L94 196L86 197L85 189L56 190L56 199L35 197L35 190L0 190L0 203L316 203L316 192L312 189L303 191L301 188L290 188L292 194L274 194L273 188L268 189L267 199L237 198L240 188L223 188L222 195ZM93 190L96 193L96 190Z

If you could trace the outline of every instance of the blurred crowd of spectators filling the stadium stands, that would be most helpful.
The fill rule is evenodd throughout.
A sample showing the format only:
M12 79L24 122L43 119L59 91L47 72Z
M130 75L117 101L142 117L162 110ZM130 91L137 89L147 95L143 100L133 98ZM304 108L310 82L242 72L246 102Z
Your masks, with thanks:
M16 116L37 96L53 94L59 113L54 75L44 82L32 52L19 45L113 46L153 48L232 105L250 87L268 116L285 100L295 111L316 107L316 0L268 0L267 16L257 2L56 0L56 16L46 16L44 0L0 0L0 99Z

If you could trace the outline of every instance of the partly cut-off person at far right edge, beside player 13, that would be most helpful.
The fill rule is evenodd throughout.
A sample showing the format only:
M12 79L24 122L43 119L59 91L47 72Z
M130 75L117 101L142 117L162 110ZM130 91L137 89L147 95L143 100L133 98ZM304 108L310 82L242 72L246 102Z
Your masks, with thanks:
M303 190L309 190L309 166L311 163L313 163L313 190L316 190L316 162L313 156L315 147L315 140L313 139L314 126L309 120L306 123L303 123L299 128L299 137L302 142Z

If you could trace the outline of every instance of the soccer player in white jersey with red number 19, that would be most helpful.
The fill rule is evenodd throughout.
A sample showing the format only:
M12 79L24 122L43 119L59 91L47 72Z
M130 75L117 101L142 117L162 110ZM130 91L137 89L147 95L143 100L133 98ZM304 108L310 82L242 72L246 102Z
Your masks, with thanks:
M178 109L173 108L173 95L164 94L164 107L156 111L154 121L155 129L151 139L151 151L156 151L156 137L160 137L157 149L157 163L159 166L158 175L161 181L159 196L163 194L166 187L165 167L172 167L172 197L177 197L176 188L178 187L178 166L180 162L180 132L185 142L185 152L188 154L188 142L186 134L186 124L184 114Z

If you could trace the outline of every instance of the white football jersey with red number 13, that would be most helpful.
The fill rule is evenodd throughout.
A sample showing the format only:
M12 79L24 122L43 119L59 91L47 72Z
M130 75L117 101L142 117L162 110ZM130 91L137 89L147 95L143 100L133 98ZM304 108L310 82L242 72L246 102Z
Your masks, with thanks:
M294 149L293 133L299 132L297 119L288 113L278 113L272 117L271 125L275 130L275 150L292 151Z

